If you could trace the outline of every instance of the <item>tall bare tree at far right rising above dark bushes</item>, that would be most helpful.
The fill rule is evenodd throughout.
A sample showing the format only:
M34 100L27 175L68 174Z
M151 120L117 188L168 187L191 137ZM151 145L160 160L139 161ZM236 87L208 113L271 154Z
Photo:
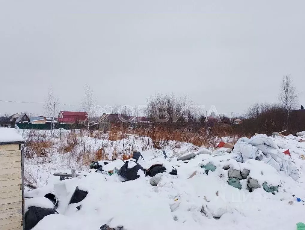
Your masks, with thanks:
M287 112L287 127L289 122L289 115L292 109L296 108L298 105L298 96L299 95L296 91L296 87L293 86L292 79L290 75L287 74L283 77L280 93L278 95L278 100Z

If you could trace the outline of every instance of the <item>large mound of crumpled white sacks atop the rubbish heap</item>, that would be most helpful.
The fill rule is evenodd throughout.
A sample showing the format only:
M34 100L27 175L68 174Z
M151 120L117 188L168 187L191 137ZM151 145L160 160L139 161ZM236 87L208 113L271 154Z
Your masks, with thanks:
M258 134L250 139L242 137L236 142L231 152L233 159L239 162L246 162L248 159L263 161L297 180L296 165L292 162L291 157L284 153L287 151L285 148L286 140L282 137L275 138L281 138L282 140L276 139L276 142L274 142L274 138L263 134Z

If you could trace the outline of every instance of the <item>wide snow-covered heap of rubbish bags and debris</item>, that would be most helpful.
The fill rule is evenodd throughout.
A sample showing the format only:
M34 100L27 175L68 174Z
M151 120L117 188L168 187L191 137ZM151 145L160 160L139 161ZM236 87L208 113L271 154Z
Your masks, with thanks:
M102 173L53 180L26 194L54 193L59 200L59 214L44 217L33 230L256 230L270 222L274 229L294 229L303 220L296 197L305 199L305 161L298 157L305 143L258 137L241 138L231 153L148 150L138 160L99 161ZM287 149L291 157L283 153ZM286 161L296 167L297 180L286 173ZM83 196L70 203L77 190Z

